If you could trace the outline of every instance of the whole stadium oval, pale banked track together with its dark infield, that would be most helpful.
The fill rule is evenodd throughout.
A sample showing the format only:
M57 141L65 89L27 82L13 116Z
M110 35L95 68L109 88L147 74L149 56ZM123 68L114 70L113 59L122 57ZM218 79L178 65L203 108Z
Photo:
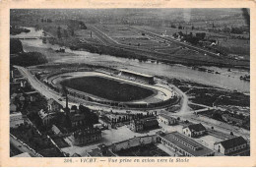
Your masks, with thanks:
M173 96L172 89L163 86L148 85L100 72L60 73L47 77L45 81L58 88L62 88L64 82L69 90L77 93L75 95L89 96L101 102L147 104L166 101ZM115 94L118 96L113 96Z

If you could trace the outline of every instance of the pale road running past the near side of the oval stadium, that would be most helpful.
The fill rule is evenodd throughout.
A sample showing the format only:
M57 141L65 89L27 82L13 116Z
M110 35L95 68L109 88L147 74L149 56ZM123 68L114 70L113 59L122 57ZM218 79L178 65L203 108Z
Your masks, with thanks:
M24 77L26 77L28 79L28 81L31 83L31 85L36 90L38 90L41 94L43 94L47 98L53 98L54 100L56 100L58 103L60 103L62 106L65 107L65 101L59 101L58 100L60 98L60 95L58 93L51 90L46 85L41 84L38 80L36 80L34 78L34 76L27 69L25 69L23 67L18 67L18 66L15 66L15 67L21 72L21 74ZM182 96L182 106L181 106L180 111L177 112L177 113L173 114L173 113L170 113L170 112L163 111L163 112L165 112L165 114L170 115L170 116L174 116L174 117L180 117L180 118L182 118L182 120L188 120L188 121L193 122L193 123L203 123L206 127L208 127L208 128L215 127L216 130L221 131L225 134L229 134L230 132L233 132L233 134L235 136L242 136L245 139L249 139L250 131L239 129L235 126L231 126L231 125L228 125L228 124L225 124L223 122L213 120L213 119L210 119L210 118L207 118L207 117L194 115L193 114L194 111L189 110L187 95L184 92L182 92L179 88L175 87L174 85L173 85L173 89L175 91L177 91L179 93L179 95ZM85 103L85 100L77 99L77 98L76 98L76 100L79 101L79 102L81 101L80 103ZM70 103L69 106L78 105L79 102ZM91 106L88 106L88 107L91 108L91 109L95 109L95 110L104 109L104 110L108 110L108 111L112 110L113 112L126 113L126 110L119 110L119 109L115 110L114 108L109 108L109 107L101 107L101 106L96 106L96 105L95 106L91 105ZM210 109L218 109L218 108L211 108L210 107ZM209 108L200 109L197 112L206 111L206 110L209 110ZM134 110L133 112L135 113L136 111ZM142 112L142 111L139 111L139 112ZM137 113L138 113L138 111L137 111Z

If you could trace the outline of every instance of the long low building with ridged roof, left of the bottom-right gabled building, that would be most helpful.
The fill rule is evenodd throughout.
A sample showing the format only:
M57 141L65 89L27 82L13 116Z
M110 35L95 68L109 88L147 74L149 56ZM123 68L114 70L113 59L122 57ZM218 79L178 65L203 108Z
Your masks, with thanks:
M214 156L215 152L178 132L165 134L157 132L158 142L175 151L178 156Z

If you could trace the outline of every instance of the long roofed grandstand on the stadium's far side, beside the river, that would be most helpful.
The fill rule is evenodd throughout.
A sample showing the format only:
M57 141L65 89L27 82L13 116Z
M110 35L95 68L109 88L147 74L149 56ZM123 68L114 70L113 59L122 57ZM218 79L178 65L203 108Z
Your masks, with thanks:
M132 79L134 79L133 81L145 82L150 85L154 84L154 77L150 75L145 75L123 69L120 70L120 74L125 77L131 77Z

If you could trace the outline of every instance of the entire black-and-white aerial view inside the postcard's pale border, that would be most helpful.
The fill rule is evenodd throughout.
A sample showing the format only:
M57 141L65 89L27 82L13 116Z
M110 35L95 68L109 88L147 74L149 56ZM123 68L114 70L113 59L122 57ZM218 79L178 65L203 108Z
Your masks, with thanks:
M250 156L250 9L11 9L9 105L10 157Z

